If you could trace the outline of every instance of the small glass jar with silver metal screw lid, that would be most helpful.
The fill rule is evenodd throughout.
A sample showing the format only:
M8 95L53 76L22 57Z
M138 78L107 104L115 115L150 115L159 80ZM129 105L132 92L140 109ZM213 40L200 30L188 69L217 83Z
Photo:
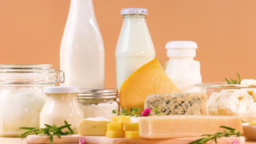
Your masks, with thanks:
M111 120L112 110L119 111L118 89L80 89L78 101L84 118L104 117Z

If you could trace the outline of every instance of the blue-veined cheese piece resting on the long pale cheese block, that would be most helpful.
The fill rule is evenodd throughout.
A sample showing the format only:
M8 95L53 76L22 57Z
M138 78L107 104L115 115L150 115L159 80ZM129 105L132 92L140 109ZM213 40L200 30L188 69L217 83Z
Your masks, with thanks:
M165 115L208 115L205 93L154 94L146 98L144 108L158 107Z

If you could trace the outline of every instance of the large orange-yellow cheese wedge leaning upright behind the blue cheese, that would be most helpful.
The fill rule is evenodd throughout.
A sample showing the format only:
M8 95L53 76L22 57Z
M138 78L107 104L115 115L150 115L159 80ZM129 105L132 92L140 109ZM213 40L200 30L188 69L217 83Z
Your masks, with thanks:
M143 111L148 95L179 92L155 58L137 69L123 83L119 94L120 105L122 109L127 107L130 110L133 107Z

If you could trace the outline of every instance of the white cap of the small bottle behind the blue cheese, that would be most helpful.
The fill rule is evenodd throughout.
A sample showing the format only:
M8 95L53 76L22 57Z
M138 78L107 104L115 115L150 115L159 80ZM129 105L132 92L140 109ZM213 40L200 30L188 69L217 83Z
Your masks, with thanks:
M167 57L195 57L197 48L194 41L170 41L165 45Z

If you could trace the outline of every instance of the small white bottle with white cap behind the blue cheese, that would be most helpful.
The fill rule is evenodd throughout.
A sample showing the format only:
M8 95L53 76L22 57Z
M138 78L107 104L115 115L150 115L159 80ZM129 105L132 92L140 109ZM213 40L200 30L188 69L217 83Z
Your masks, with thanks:
M165 72L181 92L201 92L196 83L202 82L200 62L194 61L197 44L194 41L170 41L166 44Z

